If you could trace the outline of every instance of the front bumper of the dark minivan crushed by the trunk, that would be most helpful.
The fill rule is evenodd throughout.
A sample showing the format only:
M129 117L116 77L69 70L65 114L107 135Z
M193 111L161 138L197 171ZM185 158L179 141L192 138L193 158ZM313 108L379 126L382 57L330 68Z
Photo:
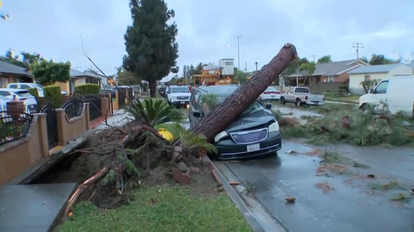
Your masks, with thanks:
M280 132L268 133L267 137L258 142L258 144L260 144L259 150L248 152L247 145L249 144L237 144L230 138L222 140L215 144L218 151L217 158L220 160L230 160L268 155L269 153L276 152L282 148L281 134Z

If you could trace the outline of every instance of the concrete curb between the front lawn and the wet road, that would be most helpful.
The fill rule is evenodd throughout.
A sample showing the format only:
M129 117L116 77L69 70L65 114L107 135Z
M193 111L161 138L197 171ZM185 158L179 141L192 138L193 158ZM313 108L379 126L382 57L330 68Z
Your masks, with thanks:
M210 166L211 172L215 173L214 178L218 178L217 181L220 181L224 190L226 190L227 196L233 201L234 205L236 205L239 212L245 217L247 223L249 224L250 228L254 232L265 232L262 225L257 221L257 219L254 217L253 213L250 211L250 209L247 207L243 199L239 196L239 194L233 189L233 187L230 185L230 183L226 180L226 178L223 176L223 174L220 172L220 170L213 164L213 162L208 158L207 155L203 156L203 160L205 162L208 162L208 165ZM213 172L215 171L215 172ZM220 182L218 182L220 184Z

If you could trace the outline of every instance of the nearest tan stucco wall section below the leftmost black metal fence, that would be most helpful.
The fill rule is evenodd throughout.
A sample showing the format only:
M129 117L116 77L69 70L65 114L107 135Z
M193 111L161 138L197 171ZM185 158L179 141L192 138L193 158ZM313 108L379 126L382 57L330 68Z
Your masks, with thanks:
M35 114L24 138L0 146L0 184L48 156L46 114Z

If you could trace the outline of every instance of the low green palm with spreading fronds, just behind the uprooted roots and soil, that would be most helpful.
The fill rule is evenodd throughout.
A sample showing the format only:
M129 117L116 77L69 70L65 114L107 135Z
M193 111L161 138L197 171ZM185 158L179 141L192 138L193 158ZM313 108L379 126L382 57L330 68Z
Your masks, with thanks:
M135 119L141 119L151 127L161 123L180 122L183 119L183 114L176 110L173 105L168 105L163 99L155 101L145 99L144 103L139 99L135 99L127 106L127 112Z

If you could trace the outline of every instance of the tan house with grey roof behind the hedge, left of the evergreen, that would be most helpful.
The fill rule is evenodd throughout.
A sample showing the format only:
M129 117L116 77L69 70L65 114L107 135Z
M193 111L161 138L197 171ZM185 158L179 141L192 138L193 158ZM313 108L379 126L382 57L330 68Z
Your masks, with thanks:
M100 84L102 77L93 72L81 72L71 68L71 80L69 82L56 82L55 85L60 86L60 90L72 94L75 91L75 86L81 84Z

